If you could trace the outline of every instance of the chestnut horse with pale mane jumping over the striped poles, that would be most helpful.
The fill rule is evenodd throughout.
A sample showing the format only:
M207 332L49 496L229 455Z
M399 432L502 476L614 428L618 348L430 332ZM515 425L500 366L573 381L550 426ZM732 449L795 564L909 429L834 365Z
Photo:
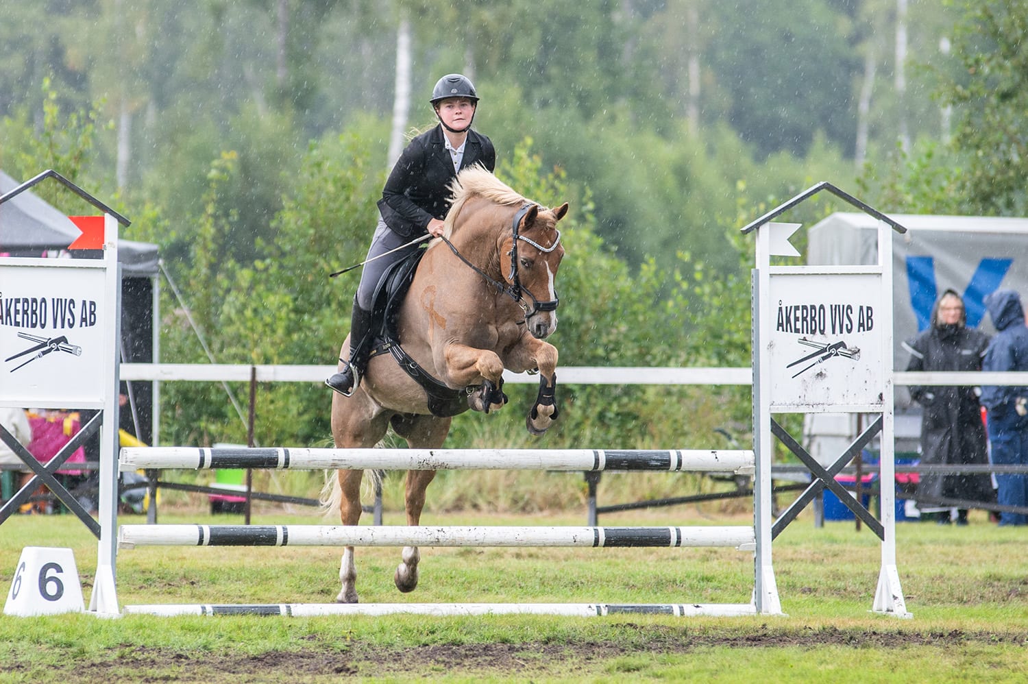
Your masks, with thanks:
M537 371L540 393L526 425L541 435L556 419L557 350L543 341L557 327L554 280L563 257L556 223L567 204L547 209L529 202L480 167L461 172L450 189L452 207L442 239L434 240L414 273L396 330L402 349L425 373L455 390L449 416L434 415L429 393L394 356L371 357L353 395L332 396L332 436L340 448L371 447L390 426L412 448L439 448L452 416L468 408L489 412L507 401L504 368ZM344 356L350 337L342 344ZM341 368L341 364L340 364ZM452 399L452 398L451 398ZM441 412L438 410L437 413ZM326 505L338 507L343 525L361 517L363 471L339 470ZM416 526L433 470L407 472L407 525ZM403 549L394 581L401 591L417 586L416 546ZM339 567L336 601L357 603L354 547Z

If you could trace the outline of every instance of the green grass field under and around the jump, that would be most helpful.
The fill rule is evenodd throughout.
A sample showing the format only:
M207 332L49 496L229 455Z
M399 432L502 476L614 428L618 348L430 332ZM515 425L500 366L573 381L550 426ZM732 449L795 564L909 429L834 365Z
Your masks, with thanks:
M454 681L1021 682L1028 678L1028 531L974 512L966 528L896 527L909 620L870 612L880 543L809 513L774 543L782 617L0 616L0 682ZM122 523L142 523L122 516ZM747 525L680 506L601 517L607 526ZM236 524L178 509L161 523ZM318 525L276 511L256 524ZM387 524L399 524L387 511ZM584 525L584 512L434 513L426 525ZM25 546L70 547L86 603L96 541L70 515L0 528L0 586ZM330 603L335 548L122 550L121 605ZM423 548L421 582L393 586L398 549L358 549L365 603L746 603L751 554L732 549Z

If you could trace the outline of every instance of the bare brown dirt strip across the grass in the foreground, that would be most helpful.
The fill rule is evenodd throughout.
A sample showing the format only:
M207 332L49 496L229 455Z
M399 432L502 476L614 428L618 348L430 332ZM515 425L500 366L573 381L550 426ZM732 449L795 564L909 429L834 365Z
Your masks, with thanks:
M190 652L123 645L104 660L79 659L67 669L48 671L48 681L74 682L318 682L343 677L438 677L444 674L492 677L570 677L596 674L597 663L632 655L688 653L699 649L939 648L1011 644L1028 647L1028 635L1012 633L908 632L839 629L836 627L758 627L708 629L652 624L612 625L617 638L580 642L429 644L403 649L380 648L359 641L345 645L315 644L298 650L254 655ZM613 635L612 635L613 636ZM318 641L317 638L310 641ZM12 674L29 675L32 664L6 664Z

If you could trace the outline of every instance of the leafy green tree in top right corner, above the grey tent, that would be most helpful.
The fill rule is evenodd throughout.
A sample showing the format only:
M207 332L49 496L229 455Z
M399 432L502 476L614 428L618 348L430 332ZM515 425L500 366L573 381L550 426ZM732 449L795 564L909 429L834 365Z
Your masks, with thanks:
M1019 174L1025 107L1025 53L1019 32L1028 3L952 3L962 12L952 58L920 69L935 98L953 108L953 136L923 138L910 152L894 146L864 169L868 199L886 211L1022 215L1028 195Z

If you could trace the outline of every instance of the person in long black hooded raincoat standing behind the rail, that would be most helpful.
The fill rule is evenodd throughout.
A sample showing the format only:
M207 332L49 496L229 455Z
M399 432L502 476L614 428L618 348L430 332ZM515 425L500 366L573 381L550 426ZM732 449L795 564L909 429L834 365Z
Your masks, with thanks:
M946 290L935 301L931 322L913 340L904 343L910 352L907 370L981 370L989 345L984 332L966 327L963 299ZM911 387L911 398L924 408L921 417L921 463L930 465L989 463L977 388L935 386ZM917 485L922 510L946 506L943 499L991 503L995 501L988 474L923 473ZM947 507L948 508L948 507ZM957 509L957 525L967 525L967 507ZM945 511L939 523L950 523Z

